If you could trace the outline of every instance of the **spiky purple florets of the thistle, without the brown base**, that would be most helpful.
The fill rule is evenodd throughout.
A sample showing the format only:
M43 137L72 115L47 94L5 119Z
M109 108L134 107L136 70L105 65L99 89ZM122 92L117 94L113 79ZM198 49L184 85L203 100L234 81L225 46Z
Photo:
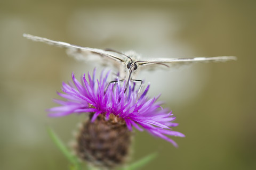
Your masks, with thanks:
M176 137L185 137L180 132L172 131L170 127L177 126L178 123L173 123L175 117L172 112L166 108L162 108L162 102L156 101L158 97L149 99L146 94L149 90L149 85L146 90L140 92L138 101L138 92L130 85L129 90L124 92L125 86L107 81L109 72L105 75L101 73L99 80L95 80L95 70L91 78L88 73L88 79L85 79L85 74L80 83L72 73L73 83L62 83L62 91L65 94L58 92L58 95L66 100L54 99L55 103L61 106L48 109L49 116L58 117L66 116L71 113L94 113L91 122L95 121L98 115L102 114L108 120L110 114L122 118L129 130L134 126L139 131L145 129L150 134L171 142L175 147L172 139L166 135ZM109 84L109 86L108 86ZM125 84L125 83L124 83Z

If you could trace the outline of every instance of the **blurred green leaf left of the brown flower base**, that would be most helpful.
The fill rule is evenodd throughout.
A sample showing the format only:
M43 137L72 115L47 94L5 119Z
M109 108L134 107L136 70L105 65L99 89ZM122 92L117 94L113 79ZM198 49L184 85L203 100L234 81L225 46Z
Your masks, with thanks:
M59 139L57 134L55 134L51 128L47 128L47 132L49 133L55 145L60 149L62 154L64 154L68 158L69 162L71 163L70 169L81 170L82 167L81 167L81 163L79 163L78 158L73 154L71 154L69 149L63 144L63 142Z

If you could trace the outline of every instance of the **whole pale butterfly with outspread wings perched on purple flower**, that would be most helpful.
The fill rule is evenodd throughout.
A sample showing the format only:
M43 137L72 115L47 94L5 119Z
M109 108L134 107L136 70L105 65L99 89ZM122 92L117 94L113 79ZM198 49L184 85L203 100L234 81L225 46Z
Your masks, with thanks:
M31 39L33 41L41 41L50 45L59 46L67 48L68 55L74 56L75 58L79 58L82 60L88 60L89 55L88 52L97 54L102 57L103 64L114 64L119 69L119 76L122 80L126 79L126 88L130 80L132 79L132 74L135 72L139 72L140 69L148 68L155 69L156 65L162 65L166 67L171 67L174 64L187 64L187 63L196 63L196 62L226 62L231 60L236 60L235 56L219 56L219 57L193 57L193 58L157 58L152 60L141 60L140 56L133 51L120 53L112 49L97 49L97 48L89 48L82 47L73 44L64 43L61 41L54 41L47 38L32 36L24 33L23 37ZM106 60L107 61L106 61ZM140 86L141 87L141 86Z

